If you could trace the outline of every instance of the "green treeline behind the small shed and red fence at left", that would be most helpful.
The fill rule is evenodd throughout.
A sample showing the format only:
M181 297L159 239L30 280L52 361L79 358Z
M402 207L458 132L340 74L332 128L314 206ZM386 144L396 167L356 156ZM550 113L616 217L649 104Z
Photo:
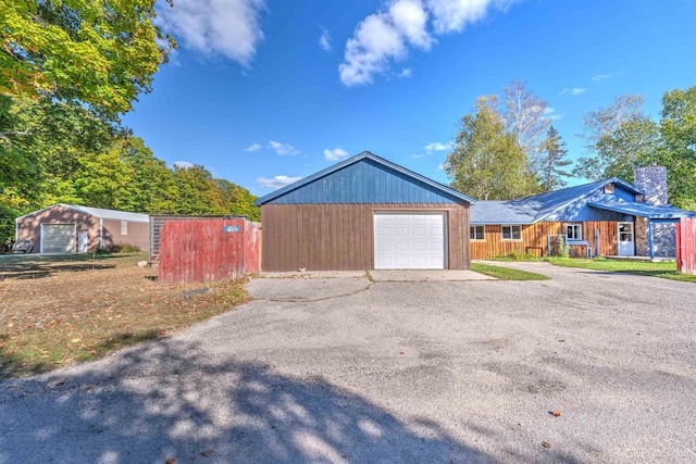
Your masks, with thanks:
M148 214L246 215L256 197L203 166L167 167L142 139L78 103L0 96L0 238L54 203Z

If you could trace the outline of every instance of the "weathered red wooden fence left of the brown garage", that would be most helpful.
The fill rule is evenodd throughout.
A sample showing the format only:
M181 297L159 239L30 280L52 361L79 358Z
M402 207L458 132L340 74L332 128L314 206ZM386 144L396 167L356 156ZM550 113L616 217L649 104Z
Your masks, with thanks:
M160 231L159 279L224 280L260 271L260 225L244 218L171 221Z

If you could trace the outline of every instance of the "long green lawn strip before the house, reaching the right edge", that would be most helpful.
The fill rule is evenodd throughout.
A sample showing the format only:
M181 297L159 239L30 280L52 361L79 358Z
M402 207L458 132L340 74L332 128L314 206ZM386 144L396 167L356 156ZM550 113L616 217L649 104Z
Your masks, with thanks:
M612 273L637 274L642 276L661 277L672 280L683 280L696 283L696 276L676 271L674 262L645 262L645 261L623 261L607 260L605 258L594 258L591 260L580 260L571 258L548 258L549 263L563 267L582 267L585 269L608 271Z

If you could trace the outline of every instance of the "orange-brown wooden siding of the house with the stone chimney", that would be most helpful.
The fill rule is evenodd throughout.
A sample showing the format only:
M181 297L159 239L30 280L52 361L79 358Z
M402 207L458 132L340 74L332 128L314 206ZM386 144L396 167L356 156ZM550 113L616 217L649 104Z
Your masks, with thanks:
M485 240L471 241L471 259L497 258L512 251L548 256L548 236L563 234L567 224L577 223L540 222L523 225L522 240L502 240L500 225L486 225ZM601 255L618 253L617 223L614 221L586 221L582 225L583 240L588 241L592 246L593 255L597 255L598 252ZM595 240L595 229L599 229L599 250L597 250ZM585 253L584 247L579 254L583 253Z

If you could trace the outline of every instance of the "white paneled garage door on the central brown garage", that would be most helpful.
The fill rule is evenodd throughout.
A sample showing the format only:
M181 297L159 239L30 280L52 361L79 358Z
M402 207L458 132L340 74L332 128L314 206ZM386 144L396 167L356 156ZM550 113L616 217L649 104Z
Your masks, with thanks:
M375 213L374 267L445 268L445 214Z

